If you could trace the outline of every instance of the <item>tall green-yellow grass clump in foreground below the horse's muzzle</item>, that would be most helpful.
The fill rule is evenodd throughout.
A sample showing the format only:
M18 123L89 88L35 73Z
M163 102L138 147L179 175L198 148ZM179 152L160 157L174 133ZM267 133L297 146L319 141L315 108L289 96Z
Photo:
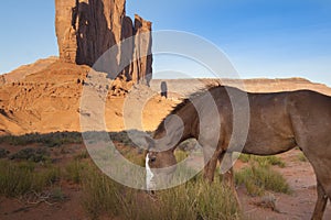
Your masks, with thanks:
M172 189L146 193L126 188L97 170L89 169L83 180L83 206L92 219L241 219L228 188L216 180L202 179Z

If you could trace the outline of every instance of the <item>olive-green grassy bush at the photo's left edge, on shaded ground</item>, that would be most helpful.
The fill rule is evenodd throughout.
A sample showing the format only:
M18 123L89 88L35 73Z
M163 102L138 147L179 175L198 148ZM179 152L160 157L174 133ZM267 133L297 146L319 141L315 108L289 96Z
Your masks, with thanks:
M60 178L60 169L47 167L35 172L32 162L0 162L0 195L22 196L29 191L41 191Z

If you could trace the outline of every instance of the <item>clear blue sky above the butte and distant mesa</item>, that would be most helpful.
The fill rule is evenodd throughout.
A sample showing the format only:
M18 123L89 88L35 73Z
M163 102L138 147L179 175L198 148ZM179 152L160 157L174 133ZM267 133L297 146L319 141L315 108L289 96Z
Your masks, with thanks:
M211 41L242 78L296 76L331 86L329 0L127 0L127 13L152 21L156 31ZM0 29L0 73L57 55L53 0L3 1ZM156 57L154 69L162 65Z

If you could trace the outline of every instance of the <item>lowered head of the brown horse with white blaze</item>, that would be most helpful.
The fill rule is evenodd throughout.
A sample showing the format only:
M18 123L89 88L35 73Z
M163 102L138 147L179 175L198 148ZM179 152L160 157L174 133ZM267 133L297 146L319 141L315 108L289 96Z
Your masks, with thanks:
M162 142L154 140L148 140L148 145L146 155L147 189L167 187L175 170L177 161L173 148L167 148Z

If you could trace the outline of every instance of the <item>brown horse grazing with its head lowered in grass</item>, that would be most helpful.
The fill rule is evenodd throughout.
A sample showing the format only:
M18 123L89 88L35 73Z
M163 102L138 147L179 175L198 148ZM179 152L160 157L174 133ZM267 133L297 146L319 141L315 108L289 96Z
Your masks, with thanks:
M228 146L234 127L234 108L228 91L242 92L248 98L249 124L243 146ZM204 94L210 94L214 99L218 116L210 111L212 102L205 101ZM191 138L197 140L204 156L210 154L205 156L204 167L204 177L209 182L214 178L217 161L222 162L226 153L242 151L254 155L274 155L299 146L317 177L318 199L312 219L322 219L328 198L331 198L331 97L310 90L246 94L224 86L209 88L204 94L178 105L160 123L153 139L148 140L146 165L152 175L147 184L160 175L153 169L166 168L166 176L173 174L177 164L173 152L181 142ZM201 120L211 123L217 121L220 127L215 130L218 133L213 132L212 128L202 132ZM205 123L203 127L207 125ZM211 146L209 143L215 136L217 144ZM209 148L212 148L212 153L209 153ZM229 183L233 183L233 170L229 169L227 174Z

